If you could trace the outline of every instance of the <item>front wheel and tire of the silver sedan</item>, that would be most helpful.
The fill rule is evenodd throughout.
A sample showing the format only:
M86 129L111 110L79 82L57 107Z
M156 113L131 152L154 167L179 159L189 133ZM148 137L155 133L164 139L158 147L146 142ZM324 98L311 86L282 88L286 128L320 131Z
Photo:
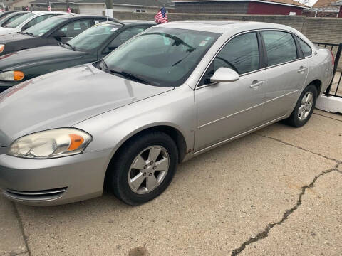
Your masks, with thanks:
M150 161L153 159L155 161ZM168 164L167 168L165 163ZM169 135L159 131L142 133L119 149L118 155L110 163L106 183L121 201L138 206L165 191L175 175L177 163L177 146ZM142 183L138 186L140 181Z

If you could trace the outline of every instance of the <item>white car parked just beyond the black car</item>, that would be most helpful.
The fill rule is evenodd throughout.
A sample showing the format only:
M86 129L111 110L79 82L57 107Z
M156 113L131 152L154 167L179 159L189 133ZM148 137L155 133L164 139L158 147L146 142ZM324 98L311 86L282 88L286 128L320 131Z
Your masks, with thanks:
M5 27L0 27L0 35L24 31L27 28L31 28L31 26L46 20L46 18L51 18L61 14L68 13L66 11L31 11L23 16L20 16L19 18L16 18L11 23L6 24Z

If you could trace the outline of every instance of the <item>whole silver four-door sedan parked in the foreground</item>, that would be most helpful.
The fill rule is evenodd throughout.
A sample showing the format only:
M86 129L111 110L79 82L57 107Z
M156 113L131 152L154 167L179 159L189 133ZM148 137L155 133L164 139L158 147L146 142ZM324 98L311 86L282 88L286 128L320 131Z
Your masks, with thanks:
M331 53L288 26L155 26L0 94L1 193L46 206L108 187L145 203L193 156L281 119L306 124L332 73Z

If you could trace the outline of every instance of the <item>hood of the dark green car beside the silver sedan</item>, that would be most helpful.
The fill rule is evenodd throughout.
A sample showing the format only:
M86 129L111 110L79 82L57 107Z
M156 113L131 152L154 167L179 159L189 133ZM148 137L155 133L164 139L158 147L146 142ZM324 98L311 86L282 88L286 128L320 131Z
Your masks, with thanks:
M0 56L0 70L13 70L24 68L34 63L51 63L64 58L81 58L89 53L74 51L62 46L41 46L26 50L19 50Z

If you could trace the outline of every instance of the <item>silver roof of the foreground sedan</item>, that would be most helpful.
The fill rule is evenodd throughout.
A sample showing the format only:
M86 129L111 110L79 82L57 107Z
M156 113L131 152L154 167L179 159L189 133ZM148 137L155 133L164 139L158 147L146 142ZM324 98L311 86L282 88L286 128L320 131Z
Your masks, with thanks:
M255 22L255 21L174 21L158 25L165 28L182 28L197 31L214 33L232 33L232 31L248 31L253 29L282 29L291 32L298 32L289 26Z

